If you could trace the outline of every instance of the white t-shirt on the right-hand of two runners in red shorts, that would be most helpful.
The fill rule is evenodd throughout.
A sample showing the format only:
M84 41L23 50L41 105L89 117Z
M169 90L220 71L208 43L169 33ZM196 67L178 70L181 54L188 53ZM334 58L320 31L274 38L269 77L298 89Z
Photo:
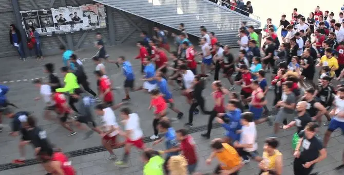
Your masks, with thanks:
M143 132L140 127L140 118L138 114L129 114L129 119L126 121L125 130L132 130L130 133L130 140L137 141L143 137Z

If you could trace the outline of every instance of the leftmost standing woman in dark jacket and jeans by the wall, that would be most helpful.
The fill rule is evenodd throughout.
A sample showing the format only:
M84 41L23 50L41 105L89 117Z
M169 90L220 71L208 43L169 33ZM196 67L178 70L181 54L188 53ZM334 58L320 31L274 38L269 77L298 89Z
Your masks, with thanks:
M25 61L26 56L23 50L21 32L15 27L14 24L11 24L9 34L11 45L17 49L20 59Z

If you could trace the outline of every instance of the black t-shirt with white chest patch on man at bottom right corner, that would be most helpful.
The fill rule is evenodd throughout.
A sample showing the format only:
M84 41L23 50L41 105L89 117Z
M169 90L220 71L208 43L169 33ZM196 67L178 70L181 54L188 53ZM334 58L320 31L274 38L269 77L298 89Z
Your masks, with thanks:
M300 159L305 162L311 162L319 157L319 151L323 148L320 140L313 136L311 139L307 139L304 135L304 131L299 132L299 137L303 137L301 144L302 150L300 153Z

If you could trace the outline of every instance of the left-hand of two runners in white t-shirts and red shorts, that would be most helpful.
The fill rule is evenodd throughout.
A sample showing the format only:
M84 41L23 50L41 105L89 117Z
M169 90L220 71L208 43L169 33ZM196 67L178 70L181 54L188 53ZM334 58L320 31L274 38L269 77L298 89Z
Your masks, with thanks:
M116 122L116 116L110 107L104 106L104 104L98 104L95 106L95 114L101 116L103 120L103 126L101 130L103 131L100 133L102 137L102 145L105 149L110 153L108 158L105 160L112 160L116 159L116 155L112 151L112 146L117 146L116 138L118 132L116 128L118 128L118 124Z

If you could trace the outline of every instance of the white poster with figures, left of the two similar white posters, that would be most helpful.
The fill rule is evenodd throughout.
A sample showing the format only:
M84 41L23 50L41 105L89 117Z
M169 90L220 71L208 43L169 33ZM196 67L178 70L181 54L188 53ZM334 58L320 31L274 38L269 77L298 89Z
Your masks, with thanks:
M58 9L51 9L53 16L55 33L66 33L70 32L70 26L67 21L69 14L67 13L67 8L62 7Z

